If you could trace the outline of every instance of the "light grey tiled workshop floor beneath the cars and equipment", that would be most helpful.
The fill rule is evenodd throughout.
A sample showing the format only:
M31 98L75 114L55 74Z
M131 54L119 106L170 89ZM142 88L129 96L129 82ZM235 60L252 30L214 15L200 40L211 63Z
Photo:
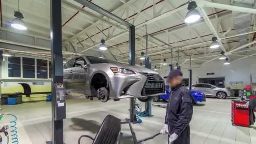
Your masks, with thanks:
M18 116L19 144L45 144L45 141L51 140L50 102L40 101L2 107L1 113L10 112ZM83 134L95 136L106 115L111 114L124 120L129 117L128 109L128 99L117 102L110 100L107 103L87 99L67 100L67 119L64 120L65 143L75 144ZM232 126L230 111L230 99L208 98L206 103L197 104L190 123L191 144L256 144L256 125L252 125L251 128ZM133 125L138 139L151 136L163 127L165 108L153 106L152 114L154 117L142 118L143 123ZM10 120L11 117L4 117L0 125L3 126ZM122 125L122 131L129 134L128 125ZM91 144L91 141L83 139L83 144ZM126 140L123 144L132 142ZM145 144L167 144L167 137L157 136Z

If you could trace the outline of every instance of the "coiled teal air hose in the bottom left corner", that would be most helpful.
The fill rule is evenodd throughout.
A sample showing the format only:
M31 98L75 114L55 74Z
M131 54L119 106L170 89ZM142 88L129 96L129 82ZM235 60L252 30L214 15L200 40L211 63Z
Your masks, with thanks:
M12 140L12 144L19 144L19 139L18 139L18 132L17 132L17 127L16 127L16 125L17 125L17 117L15 116L15 115L12 115L12 114L0 114L0 115L11 115L11 116L13 116L14 117L14 120L13 121L10 121L10 123L12 124L11 126L10 126L10 128L12 128L12 130L11 130L11 132L13 133L12 135L11 135L11 140ZM7 138L8 138L9 136L7 135ZM7 142L7 144L9 144L9 140L8 140L8 142Z

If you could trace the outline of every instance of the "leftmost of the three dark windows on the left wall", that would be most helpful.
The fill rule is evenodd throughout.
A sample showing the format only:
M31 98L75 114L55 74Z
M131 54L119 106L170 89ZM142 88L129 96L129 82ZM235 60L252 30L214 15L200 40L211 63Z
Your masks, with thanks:
M21 77L20 57L8 57L8 77Z

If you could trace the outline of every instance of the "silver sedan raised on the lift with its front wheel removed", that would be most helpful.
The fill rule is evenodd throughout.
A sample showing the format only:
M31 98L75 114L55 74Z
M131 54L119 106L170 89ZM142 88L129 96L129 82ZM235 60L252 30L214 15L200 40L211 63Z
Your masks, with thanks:
M102 102L133 97L145 102L165 93L163 77L157 72L96 56L78 56L67 61L64 86L67 94L97 97Z

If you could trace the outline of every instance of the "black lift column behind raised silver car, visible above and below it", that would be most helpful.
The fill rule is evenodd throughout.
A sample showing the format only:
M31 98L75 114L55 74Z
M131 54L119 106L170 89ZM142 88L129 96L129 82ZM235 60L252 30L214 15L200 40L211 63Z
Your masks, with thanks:
M130 64L132 66L135 66L135 27L130 27ZM135 104L136 104L136 98L130 98L130 121L132 123L136 123L136 113L135 113Z

